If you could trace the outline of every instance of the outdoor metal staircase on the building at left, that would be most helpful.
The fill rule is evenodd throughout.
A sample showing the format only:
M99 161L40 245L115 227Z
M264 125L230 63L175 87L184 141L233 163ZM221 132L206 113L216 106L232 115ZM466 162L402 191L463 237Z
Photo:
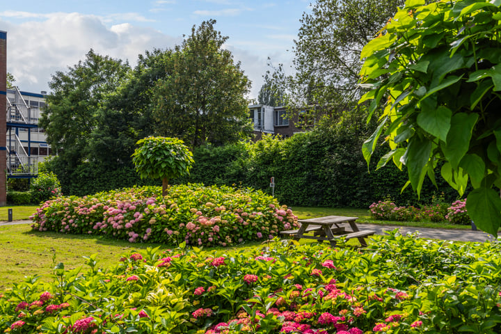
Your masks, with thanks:
M38 174L38 159L31 157L31 129L38 127L39 109L26 104L19 88L14 99L7 99L7 175L10 178L35 177ZM28 151L19 139L19 131L28 132Z

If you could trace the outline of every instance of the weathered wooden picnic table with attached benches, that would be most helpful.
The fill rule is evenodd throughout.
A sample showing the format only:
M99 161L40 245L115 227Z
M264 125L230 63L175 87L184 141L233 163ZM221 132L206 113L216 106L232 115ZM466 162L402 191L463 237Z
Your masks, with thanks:
M298 230L282 231L280 233L287 234L296 240L299 239L315 239L319 241L329 241L331 246L336 245L337 239L346 237L346 239L357 238L360 245L367 246L365 237L374 234L373 230L359 230L356 225L358 217L344 216L325 216L319 218L301 219L298 223L301 227ZM347 231L343 223L348 223L351 231ZM306 233L314 232L314 235L306 235Z

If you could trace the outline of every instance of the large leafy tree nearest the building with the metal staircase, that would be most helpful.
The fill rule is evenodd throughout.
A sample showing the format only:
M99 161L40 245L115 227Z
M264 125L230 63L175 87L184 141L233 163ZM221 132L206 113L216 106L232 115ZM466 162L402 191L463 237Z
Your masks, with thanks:
M100 56L91 49L84 61L53 75L40 127L46 130L47 142L58 150L59 159L69 168L88 158L90 134L100 121L100 108L128 72L127 63ZM113 118L106 122L117 124Z

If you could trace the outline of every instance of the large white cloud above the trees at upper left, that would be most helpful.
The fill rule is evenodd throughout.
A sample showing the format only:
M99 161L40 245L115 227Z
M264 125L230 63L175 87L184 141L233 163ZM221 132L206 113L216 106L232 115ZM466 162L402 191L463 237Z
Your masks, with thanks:
M78 13L58 13L42 22L2 22L7 31L7 70L22 90L48 90L56 71L66 71L85 58L89 49L98 54L137 61L138 54L180 44L182 38L154 29L118 24L106 27L102 18Z

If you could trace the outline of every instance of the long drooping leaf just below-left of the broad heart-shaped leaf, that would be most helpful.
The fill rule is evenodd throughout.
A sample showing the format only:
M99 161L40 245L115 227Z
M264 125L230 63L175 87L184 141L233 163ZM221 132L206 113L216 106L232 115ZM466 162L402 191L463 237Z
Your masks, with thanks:
M402 159L404 159L404 164L407 166L411 185L416 191L420 188L419 185L422 179L424 179L424 175L426 175L424 166L426 166L429 160L431 146L432 143L428 138L413 136L413 138L409 140L404 157L402 157Z

